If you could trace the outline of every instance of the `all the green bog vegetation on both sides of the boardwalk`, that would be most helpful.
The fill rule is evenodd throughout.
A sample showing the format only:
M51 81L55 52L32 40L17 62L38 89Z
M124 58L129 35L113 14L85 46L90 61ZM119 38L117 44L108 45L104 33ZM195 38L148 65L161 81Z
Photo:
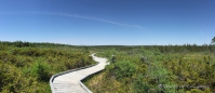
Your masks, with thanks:
M213 44L75 46L22 41L0 42L0 92L50 93L52 75L95 64L90 52L110 61L84 82L94 93L215 92Z

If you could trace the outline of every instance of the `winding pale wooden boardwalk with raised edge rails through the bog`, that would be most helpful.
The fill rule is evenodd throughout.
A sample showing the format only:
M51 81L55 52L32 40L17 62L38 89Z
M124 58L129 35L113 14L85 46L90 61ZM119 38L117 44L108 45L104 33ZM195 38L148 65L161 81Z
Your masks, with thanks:
M71 71L65 75L57 76L54 78L52 84L53 84L53 93L88 93L86 90L84 90L84 87L81 84L81 80L86 78L88 76L95 74L99 70L103 70L105 66L107 65L106 58L100 58L92 55L93 59L98 62L97 65L92 66L90 68L80 69L76 71Z

